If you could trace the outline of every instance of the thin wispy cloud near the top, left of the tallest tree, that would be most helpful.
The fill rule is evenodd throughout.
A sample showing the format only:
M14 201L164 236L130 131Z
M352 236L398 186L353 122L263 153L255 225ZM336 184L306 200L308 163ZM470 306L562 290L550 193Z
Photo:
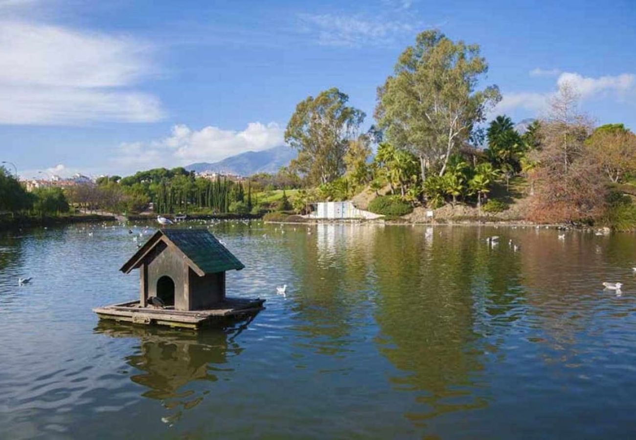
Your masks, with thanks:
M361 46L391 44L416 31L407 20L389 20L380 15L364 18L356 15L301 14L305 32L315 32L318 43L326 46Z

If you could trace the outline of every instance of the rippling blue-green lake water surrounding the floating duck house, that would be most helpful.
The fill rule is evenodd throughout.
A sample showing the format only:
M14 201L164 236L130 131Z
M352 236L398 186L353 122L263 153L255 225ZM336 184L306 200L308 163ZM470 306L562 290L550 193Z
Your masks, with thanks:
M216 224L266 310L192 333L98 322L111 226L0 235L0 438L636 436L634 235Z

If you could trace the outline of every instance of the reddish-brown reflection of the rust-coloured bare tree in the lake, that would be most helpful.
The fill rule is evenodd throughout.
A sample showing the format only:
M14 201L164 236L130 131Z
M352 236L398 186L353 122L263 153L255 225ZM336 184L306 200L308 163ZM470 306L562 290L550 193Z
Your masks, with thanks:
M603 292L601 282L614 280L615 269L633 261L636 248L626 235L568 231L565 240L558 240L560 233L540 230L526 237L522 258L525 281L532 286L527 295L532 310L529 340L550 348L541 351L544 362L577 364L581 347L594 343L583 340L597 315L608 316L604 304L614 294Z

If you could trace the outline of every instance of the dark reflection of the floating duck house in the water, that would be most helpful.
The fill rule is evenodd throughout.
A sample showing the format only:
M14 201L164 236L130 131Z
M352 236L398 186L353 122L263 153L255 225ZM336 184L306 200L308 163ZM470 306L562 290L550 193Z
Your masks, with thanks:
M174 331L100 320L95 331L114 338L139 338L139 352L125 357L128 365L141 372L131 375L130 380L148 388L144 397L174 410L162 417L165 423L178 420L182 409L193 408L209 394L208 387L192 387L193 382L216 382L214 372L221 371L220 366L228 362L228 357L242 352L233 341L237 333L220 329Z

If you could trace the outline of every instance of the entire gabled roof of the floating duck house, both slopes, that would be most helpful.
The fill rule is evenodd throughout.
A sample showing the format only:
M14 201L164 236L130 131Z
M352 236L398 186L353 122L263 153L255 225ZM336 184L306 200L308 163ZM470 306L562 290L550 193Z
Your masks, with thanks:
M197 266L197 272L218 273L241 270L245 266L207 229L167 228L159 230L121 267L128 273L141 265L148 252L165 236L179 251ZM200 273L200 275L202 275Z

